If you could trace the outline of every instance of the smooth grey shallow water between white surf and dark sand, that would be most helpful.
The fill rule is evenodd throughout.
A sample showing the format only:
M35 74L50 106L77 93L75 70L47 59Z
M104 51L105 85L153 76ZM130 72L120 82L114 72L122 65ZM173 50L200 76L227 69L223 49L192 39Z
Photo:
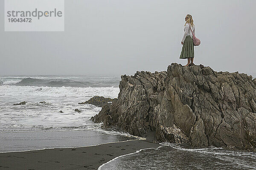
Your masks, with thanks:
M0 135L0 153L83 147L137 139L125 133L104 130L16 130L5 131Z

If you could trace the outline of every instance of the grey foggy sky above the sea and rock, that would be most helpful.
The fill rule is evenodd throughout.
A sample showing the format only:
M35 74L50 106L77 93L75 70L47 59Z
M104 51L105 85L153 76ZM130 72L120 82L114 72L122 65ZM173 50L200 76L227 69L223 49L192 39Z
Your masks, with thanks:
M121 75L164 71L179 59L191 14L195 64L256 73L256 0L65 0L64 32L5 32L0 75Z

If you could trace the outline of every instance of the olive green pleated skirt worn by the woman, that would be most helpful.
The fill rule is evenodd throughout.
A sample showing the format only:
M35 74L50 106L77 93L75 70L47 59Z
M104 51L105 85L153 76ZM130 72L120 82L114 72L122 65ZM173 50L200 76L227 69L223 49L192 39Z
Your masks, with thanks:
M188 35L186 36L180 53L180 59L194 57L194 44L193 39Z

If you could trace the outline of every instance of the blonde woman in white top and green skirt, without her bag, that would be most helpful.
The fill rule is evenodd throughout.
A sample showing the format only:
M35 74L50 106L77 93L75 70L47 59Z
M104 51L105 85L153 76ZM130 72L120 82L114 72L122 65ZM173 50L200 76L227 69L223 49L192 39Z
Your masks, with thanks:
M180 53L180 59L188 59L188 63L184 66L195 65L194 61L194 44L193 44L193 34L191 29L195 35L195 25L193 23L192 16L187 14L185 17L185 27L184 27L184 35L183 39L181 40L182 50ZM191 29L190 29L190 28Z

